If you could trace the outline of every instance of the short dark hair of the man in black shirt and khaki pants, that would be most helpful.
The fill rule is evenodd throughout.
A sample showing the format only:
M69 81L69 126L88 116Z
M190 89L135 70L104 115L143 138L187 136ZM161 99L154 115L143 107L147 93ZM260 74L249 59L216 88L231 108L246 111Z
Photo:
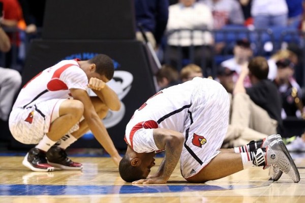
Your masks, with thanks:
M249 71L259 80L267 79L269 66L267 59L263 56L256 56L249 62Z

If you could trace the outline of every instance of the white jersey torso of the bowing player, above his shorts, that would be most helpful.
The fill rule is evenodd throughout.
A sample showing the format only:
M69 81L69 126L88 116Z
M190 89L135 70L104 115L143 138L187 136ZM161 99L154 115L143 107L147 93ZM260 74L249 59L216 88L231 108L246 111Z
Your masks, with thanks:
M188 81L183 84L169 87L159 91L150 97L138 110L127 124L126 134L130 134L138 123L154 121L156 126L147 128L167 128L178 132L184 131L188 108L191 106L191 95L194 90L194 82ZM127 136L128 144L131 144Z

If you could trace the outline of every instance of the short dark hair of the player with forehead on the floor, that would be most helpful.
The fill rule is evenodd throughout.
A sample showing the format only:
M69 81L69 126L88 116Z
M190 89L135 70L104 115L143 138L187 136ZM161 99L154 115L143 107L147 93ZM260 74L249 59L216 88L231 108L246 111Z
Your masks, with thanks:
M146 178L143 176L143 172L140 170L140 167L131 165L130 158L127 154L125 154L120 160L118 171L120 177L129 183Z

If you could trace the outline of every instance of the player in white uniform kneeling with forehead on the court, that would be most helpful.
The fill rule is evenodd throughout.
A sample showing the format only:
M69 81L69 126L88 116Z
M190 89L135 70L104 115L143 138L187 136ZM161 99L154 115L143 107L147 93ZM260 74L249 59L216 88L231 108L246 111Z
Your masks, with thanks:
M220 149L229 107L227 91L211 79L194 78L150 97L127 124L121 178L139 184L166 183L180 158L181 174L189 182L216 180L253 166L270 167L273 180L284 172L299 182L299 172L280 135ZM149 175L156 152L162 150L165 157L157 173Z

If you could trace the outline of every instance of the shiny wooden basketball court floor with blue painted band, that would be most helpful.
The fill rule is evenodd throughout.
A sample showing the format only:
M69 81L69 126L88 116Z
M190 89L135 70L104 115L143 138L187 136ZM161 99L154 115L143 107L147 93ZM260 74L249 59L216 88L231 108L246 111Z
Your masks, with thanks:
M0 202L305 202L305 154L292 154L301 176L299 183L293 183L286 174L272 182L268 170L254 167L223 179L192 184L181 177L177 166L165 185L126 183L105 156L71 156L83 163L82 171L45 173L24 167L24 155L0 156ZM156 166L161 159L156 158Z

